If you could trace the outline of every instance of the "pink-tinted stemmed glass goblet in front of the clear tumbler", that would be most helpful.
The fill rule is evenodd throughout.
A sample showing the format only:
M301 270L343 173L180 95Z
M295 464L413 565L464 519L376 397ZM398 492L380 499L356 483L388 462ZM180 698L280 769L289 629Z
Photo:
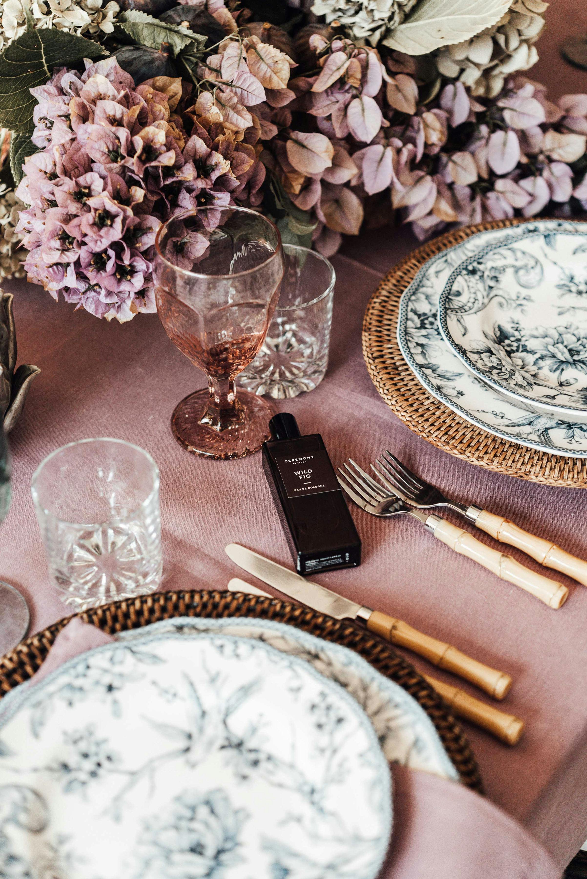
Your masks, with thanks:
M235 381L263 345L279 296L279 229L244 207L180 214L157 234L154 273L165 332L208 380L176 406L176 439L212 458L256 452L272 410L247 391L237 396Z

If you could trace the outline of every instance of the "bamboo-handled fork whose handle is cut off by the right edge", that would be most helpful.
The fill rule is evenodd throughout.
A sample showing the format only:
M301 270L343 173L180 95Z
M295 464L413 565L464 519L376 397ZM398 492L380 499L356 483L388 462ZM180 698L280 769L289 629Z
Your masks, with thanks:
M526 556L531 556L545 568L559 570L562 574L576 579L579 583L587 586L587 562L583 559L571 556L564 549L556 546L551 541L528 534L509 519L496 516L492 512L482 510L478 506L460 504L458 501L446 498L437 488L424 479L420 479L408 469L395 454L387 452L382 454L377 461L377 468L371 465L380 481L399 498L409 505L418 509L430 509L435 506L447 506L455 510L475 524L486 534L490 534L501 543L509 543L510 546L521 549Z

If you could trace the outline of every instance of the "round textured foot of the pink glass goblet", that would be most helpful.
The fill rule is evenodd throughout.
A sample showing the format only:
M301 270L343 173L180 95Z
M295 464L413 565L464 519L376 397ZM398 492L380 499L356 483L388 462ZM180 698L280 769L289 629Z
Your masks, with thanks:
M238 389L237 413L234 425L223 431L199 423L208 408L208 390L202 389L186 396L171 416L171 429L181 445L207 458L243 458L258 452L269 439L269 420L273 410L262 397Z

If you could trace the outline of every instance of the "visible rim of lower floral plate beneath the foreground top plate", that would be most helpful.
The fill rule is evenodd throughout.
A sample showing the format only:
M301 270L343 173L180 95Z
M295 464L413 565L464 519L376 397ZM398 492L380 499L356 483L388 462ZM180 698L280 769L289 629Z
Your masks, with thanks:
M144 638L163 632L184 636L221 632L223 635L257 638L274 650L301 657L313 665L317 672L344 686L359 702L373 723L383 753L390 763L400 763L410 769L459 781L459 774L424 708L402 686L380 674L354 650L316 638L282 622L240 617L220 620L174 617L120 632L116 637L125 643L141 642ZM16 694L17 691L12 692ZM4 700L8 697L5 696Z

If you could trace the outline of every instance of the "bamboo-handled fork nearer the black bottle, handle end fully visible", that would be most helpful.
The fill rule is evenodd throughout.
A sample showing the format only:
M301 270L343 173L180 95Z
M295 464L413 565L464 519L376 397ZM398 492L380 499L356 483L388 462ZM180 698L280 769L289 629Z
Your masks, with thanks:
M566 601L569 595L567 586L525 568L516 559L506 556L497 549L485 546L473 534L454 526L446 519L441 519L435 513L424 512L424 510L412 507L396 494L384 490L380 483L376 483L351 458L349 458L349 463L353 469L348 464L344 464L344 470L338 468L340 474L337 476L338 482L355 504L366 512L383 519L405 514L413 516L422 522L426 530L434 534L437 540L446 543L446 546L454 549L461 556L467 556L484 568L491 570L502 580L507 580L508 583L513 583L513 585L525 589L526 592L531 592L548 607L558 609Z

